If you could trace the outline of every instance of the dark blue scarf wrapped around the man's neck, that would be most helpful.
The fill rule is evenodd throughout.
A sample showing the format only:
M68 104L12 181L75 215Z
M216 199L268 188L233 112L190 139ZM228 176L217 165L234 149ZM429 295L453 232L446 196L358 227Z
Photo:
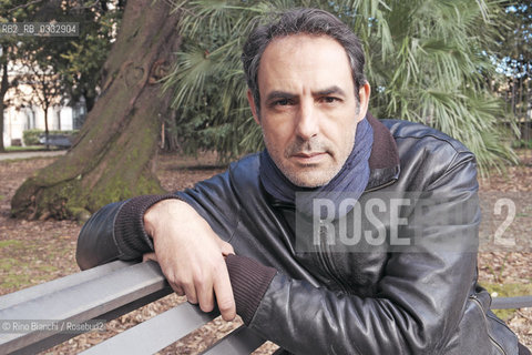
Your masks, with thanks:
M266 191L276 200L287 204L296 204L297 210L307 215L313 213L314 199L329 199L336 206L342 199L358 199L369 180L369 155L374 144L374 130L367 119L360 121L355 134L352 151L341 170L326 185L318 187L300 187L293 184L277 168L267 150L260 153L260 182Z

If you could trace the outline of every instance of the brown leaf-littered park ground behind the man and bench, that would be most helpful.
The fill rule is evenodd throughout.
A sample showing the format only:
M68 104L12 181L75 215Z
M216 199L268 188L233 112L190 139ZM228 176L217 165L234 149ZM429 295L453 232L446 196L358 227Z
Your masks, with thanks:
M492 172L481 178L481 192L490 195L511 196L518 205L514 223L504 237L520 239L530 245L532 232L532 151L521 151L521 164L509 166L505 172ZM75 243L81 226L71 221L23 221L10 217L10 200L17 187L34 171L50 164L57 158L34 158L0 161L0 295L37 285L53 278L79 272L75 264ZM198 181L222 172L212 154L183 158L160 154L156 158L158 178L168 191L193 186ZM519 244L518 243L518 244ZM521 245L521 244L519 244ZM523 244L524 245L524 244ZM530 247L528 248L531 250ZM493 295L532 294L532 253L483 252L479 254L479 277ZM72 354L98 344L157 313L184 302L175 295L142 307L108 324L105 333L80 335L55 346L48 353ZM532 308L498 313L518 334L520 341L532 348ZM239 324L215 320L187 338L161 351L161 354L197 354ZM208 339L205 342L205 339ZM272 344L256 354L270 354Z

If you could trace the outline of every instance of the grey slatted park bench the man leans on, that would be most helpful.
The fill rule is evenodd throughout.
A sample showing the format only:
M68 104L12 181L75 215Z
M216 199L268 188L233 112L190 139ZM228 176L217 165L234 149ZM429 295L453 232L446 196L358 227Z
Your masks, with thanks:
M10 333L4 323L12 327L21 320L55 320L55 325L73 322L91 328L94 320L114 320L171 292L158 264L116 261L0 296L0 354L34 354L79 334L61 332L59 326L45 332ZM532 296L495 297L492 304L497 310L521 307L532 307ZM83 354L153 354L217 315L185 302ZM253 331L241 326L203 354L249 354L263 343Z

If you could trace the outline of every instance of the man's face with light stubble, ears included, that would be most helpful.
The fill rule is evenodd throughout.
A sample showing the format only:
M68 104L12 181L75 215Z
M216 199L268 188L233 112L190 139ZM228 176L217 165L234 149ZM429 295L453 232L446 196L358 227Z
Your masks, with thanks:
M369 99L366 84L357 101L345 49L326 36L275 39L260 59L258 88L259 116L248 99L276 165L298 186L327 184L352 150Z

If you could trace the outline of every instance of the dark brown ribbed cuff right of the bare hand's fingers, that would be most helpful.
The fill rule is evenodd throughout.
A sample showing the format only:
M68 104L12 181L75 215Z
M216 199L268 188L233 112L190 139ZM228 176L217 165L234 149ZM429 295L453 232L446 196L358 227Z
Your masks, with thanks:
M225 262L235 296L236 313L249 325L277 271L241 255L231 254Z

